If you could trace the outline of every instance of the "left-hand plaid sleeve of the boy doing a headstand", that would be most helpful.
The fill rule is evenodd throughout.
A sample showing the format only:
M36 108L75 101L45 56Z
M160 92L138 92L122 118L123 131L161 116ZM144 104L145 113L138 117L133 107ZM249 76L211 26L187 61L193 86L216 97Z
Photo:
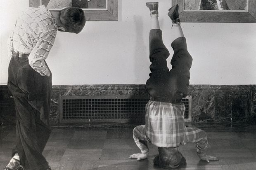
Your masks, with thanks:
M133 139L142 154L147 154L149 152L145 135L145 125L136 126L133 129Z

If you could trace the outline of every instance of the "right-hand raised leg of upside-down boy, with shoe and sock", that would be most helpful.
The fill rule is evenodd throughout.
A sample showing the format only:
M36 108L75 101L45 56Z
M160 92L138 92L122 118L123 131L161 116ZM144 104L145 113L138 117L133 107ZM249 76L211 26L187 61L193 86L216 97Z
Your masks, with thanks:
M174 51L171 60L172 69L169 72L169 84L174 88L173 98L175 101L187 96L192 65L192 57L187 51L187 42L180 26L178 9L179 6L177 4L171 7L168 12L168 16L173 24L171 29L171 47Z

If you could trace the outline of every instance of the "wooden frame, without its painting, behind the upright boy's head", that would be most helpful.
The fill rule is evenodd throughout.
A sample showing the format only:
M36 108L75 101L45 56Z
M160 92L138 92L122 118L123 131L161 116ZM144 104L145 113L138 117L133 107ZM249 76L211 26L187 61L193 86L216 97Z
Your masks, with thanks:
M105 9L83 9L86 21L118 21L118 0L106 0ZM29 7L39 7L42 0L29 0ZM61 10L61 9L50 9Z

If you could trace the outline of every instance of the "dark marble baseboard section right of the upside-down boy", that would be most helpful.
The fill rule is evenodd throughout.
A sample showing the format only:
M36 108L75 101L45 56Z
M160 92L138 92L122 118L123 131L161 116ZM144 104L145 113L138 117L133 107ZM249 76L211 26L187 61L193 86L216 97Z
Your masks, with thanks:
M193 122L256 121L256 85L190 85Z

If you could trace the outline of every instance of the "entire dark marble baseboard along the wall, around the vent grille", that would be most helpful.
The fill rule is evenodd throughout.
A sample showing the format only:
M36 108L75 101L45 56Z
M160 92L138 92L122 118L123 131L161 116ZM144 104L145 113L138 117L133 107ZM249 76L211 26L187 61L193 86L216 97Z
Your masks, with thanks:
M1 122L14 122L14 102L7 86L1 89ZM59 123L59 96L69 95L148 95L138 85L54 85L50 122ZM256 85L190 85L192 122L256 121Z

